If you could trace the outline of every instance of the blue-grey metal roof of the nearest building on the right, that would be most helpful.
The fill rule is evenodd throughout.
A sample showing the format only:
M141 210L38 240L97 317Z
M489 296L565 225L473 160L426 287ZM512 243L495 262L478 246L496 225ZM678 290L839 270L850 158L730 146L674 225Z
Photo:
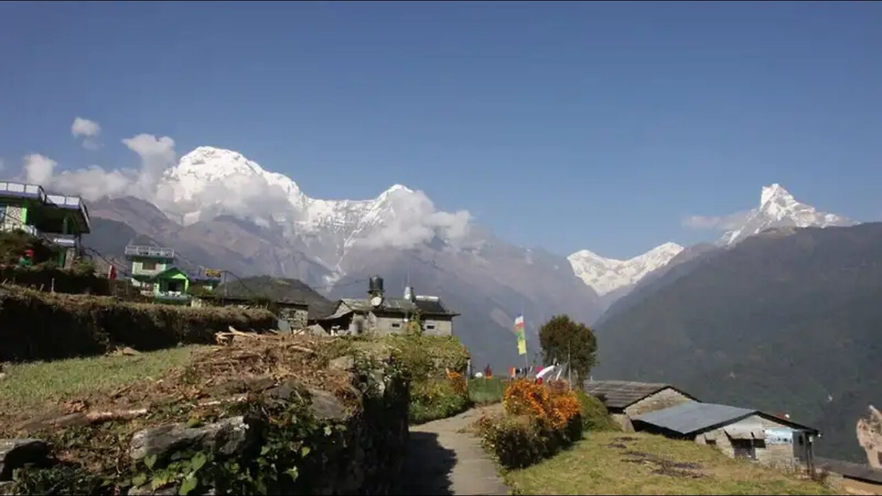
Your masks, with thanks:
M691 434L714 425L736 422L755 413L758 411L729 405L685 402L664 410L655 410L634 417L632 422L642 422L681 434Z

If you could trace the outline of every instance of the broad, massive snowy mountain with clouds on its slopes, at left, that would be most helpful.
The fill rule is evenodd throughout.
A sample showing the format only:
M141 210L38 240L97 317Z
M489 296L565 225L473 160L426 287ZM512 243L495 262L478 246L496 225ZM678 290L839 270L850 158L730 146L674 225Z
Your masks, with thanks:
M452 242L469 227L467 212L438 211L424 193L401 184L376 199L314 199L290 177L215 147L183 155L166 170L157 196L159 207L184 225L232 214L297 238L331 270L355 247L409 248L433 237Z

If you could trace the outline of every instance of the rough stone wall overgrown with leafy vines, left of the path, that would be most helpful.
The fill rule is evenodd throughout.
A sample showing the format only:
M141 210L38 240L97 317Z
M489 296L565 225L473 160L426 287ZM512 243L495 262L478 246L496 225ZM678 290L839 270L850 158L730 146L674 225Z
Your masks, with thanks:
M326 373L340 371L352 378L347 396L357 397L344 402L299 380L251 381L247 400L228 409L237 414L140 428L107 472L56 459L51 446L76 439L63 433L48 443L0 440L0 494L46 493L49 484L62 494L389 493L407 446L407 382L391 355L339 357ZM93 438L78 442L87 449Z

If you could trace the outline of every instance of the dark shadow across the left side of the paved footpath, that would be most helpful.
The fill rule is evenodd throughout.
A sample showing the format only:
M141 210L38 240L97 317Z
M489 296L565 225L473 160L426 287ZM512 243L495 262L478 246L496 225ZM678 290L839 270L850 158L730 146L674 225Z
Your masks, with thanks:
M395 494L453 494L450 474L456 453L438 443L434 432L410 432L404 470Z

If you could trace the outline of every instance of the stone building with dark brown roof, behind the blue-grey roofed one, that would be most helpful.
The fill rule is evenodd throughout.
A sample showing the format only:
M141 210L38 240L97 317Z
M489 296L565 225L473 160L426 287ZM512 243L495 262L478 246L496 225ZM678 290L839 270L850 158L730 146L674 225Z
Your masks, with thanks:
M631 419L654 410L662 410L684 402L695 401L669 384L631 380L589 380L585 391L606 406L609 414L624 432L633 432Z

